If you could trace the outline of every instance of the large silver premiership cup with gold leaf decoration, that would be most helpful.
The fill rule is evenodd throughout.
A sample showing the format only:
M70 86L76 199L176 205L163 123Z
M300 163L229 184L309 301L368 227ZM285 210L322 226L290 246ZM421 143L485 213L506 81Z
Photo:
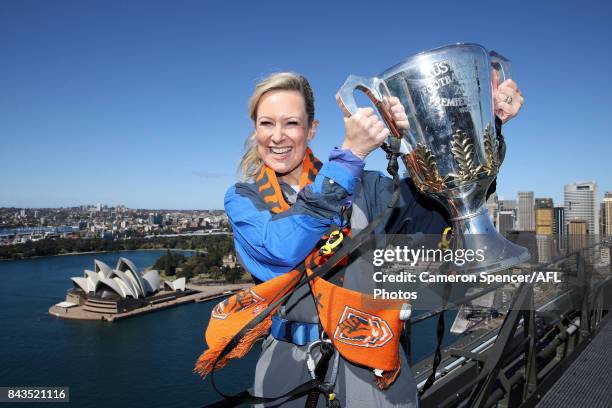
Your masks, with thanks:
M391 131L389 143L399 142L414 184L449 211L451 249L484 255L458 268L462 273L495 272L529 259L527 249L497 232L485 205L501 165L493 86L509 77L510 61L501 55L455 44L409 57L378 77L351 75L337 95L347 114L358 109L356 89L370 98ZM393 122L384 103L389 96L404 106L409 130Z

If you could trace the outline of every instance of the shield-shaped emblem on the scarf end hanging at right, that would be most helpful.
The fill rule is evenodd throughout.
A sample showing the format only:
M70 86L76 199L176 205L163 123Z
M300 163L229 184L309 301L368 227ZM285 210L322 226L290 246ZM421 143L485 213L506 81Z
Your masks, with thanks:
M345 306L334 339L359 347L382 347L393 338L389 324L378 316Z

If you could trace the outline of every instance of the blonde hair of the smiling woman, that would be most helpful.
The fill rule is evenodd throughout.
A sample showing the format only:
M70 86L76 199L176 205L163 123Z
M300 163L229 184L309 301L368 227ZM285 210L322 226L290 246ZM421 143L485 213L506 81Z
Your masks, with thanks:
M257 120L257 108L262 96L270 91L298 91L304 98L306 114L308 115L308 126L314 121L314 95L308 80L293 72L277 72L261 80L255 85L255 91L249 99L249 116L253 123ZM259 169L263 165L263 160L257 152L257 142L255 132L251 133L244 142L244 155L240 160L239 169L247 180L252 180L257 176Z

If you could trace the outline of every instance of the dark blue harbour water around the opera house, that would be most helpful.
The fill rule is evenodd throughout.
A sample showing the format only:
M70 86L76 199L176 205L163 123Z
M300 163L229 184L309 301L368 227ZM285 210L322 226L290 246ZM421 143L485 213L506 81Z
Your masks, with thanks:
M143 269L163 254L133 251L0 262L0 386L69 386L68 405L85 408L191 408L217 400L210 378L202 380L192 369L205 347L204 329L218 300L114 323L63 320L47 313L65 298L71 277L93 268L94 258L114 266L124 256ZM434 323L413 330L415 360L433 350ZM227 393L249 386L257 355L255 347L219 371L216 384Z

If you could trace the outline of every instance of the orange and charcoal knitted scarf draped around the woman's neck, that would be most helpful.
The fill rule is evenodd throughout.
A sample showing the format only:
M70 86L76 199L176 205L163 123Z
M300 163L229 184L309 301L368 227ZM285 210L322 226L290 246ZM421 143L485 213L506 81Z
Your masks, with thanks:
M320 168L321 162L307 149L300 188L312 183ZM256 183L271 212L277 214L290 208L272 169L262 166ZM312 269L325 263L330 256L321 255L315 248L304 261L306 274L311 275ZM219 358L234 336L274 300L292 291L301 278L302 273L294 269L215 306L205 334L209 348L199 357L194 371L205 376L213 369L224 367L232 358L248 353L257 339L267 334L272 325L272 315L280 305L249 330L236 347ZM342 357L354 364L382 371L382 376L375 376L379 388L384 389L392 384L400 370L399 335L402 321L399 314L403 302L374 299L372 295L345 289L320 277L310 282L310 288L314 299L317 299L317 312L323 331Z

